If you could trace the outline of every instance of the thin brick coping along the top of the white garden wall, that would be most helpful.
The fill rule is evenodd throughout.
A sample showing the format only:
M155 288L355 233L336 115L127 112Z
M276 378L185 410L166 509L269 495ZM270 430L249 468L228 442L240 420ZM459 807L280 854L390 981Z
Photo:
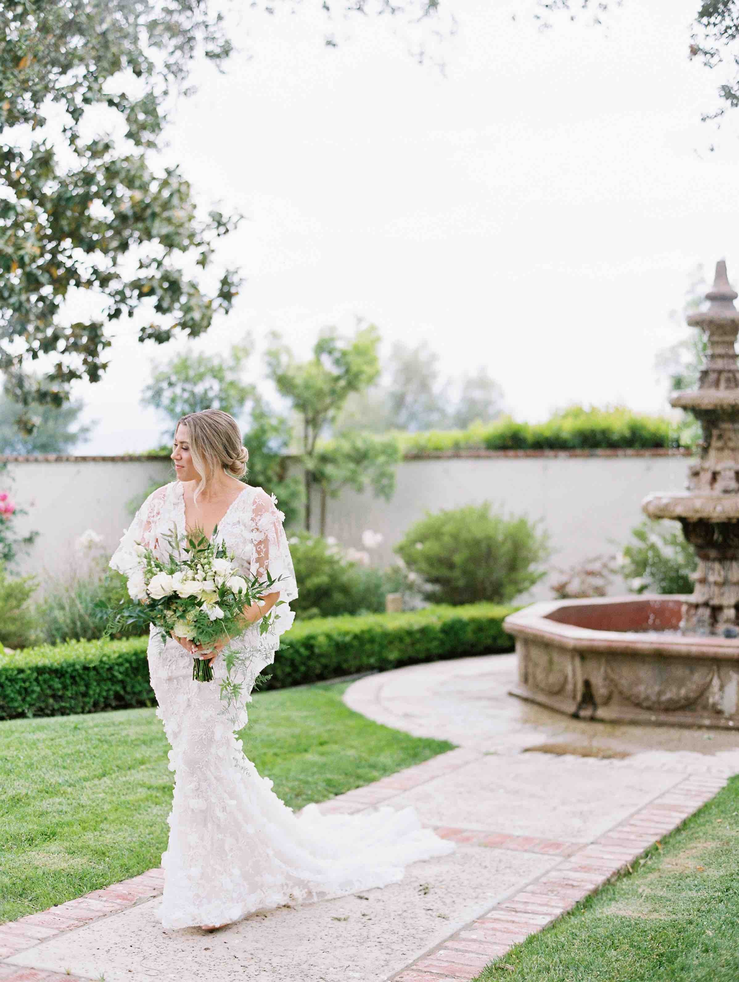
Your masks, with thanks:
M601 450L482 450L475 448L462 448L460 450L428 450L428 451L407 451L403 454L404 461L436 461L451 460L457 458L549 458L549 457L692 457L693 451L687 447L650 447L647 449L634 449L627 447L605 447ZM0 455L0 464L87 464L90 462L108 464L118 461L169 461L169 454L121 454L116 456L82 456L76 457L72 454L28 454L23 455ZM298 458L292 455L287 456L286 460L297 463Z

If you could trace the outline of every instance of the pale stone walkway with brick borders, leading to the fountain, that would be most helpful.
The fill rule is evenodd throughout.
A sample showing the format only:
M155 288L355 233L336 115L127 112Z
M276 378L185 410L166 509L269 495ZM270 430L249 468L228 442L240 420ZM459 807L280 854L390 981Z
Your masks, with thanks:
M456 842L401 883L163 931L161 872L0 925L7 982L468 982L679 825L739 772L731 733L563 719L506 695L512 656L354 682L353 709L458 748L321 810L411 804ZM566 751L566 752L565 752Z

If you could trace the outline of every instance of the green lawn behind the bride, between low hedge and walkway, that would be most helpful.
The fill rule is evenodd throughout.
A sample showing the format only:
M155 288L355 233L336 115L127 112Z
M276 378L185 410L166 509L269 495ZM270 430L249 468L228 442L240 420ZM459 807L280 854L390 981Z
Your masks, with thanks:
M452 747L351 712L345 687L254 695L244 750L293 808ZM159 865L168 748L153 709L0 722L0 922Z

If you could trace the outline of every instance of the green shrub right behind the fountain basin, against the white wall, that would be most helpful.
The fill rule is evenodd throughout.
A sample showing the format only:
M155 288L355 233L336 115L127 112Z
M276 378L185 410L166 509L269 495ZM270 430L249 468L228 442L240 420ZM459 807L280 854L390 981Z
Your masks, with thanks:
M648 518L631 535L636 541L624 546L618 572L632 593L693 592L698 557L679 522Z

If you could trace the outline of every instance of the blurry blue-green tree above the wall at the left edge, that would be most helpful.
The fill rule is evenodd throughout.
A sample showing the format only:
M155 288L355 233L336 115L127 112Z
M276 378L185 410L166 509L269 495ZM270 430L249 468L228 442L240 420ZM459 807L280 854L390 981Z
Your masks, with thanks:
M80 400L55 409L46 403L24 407L5 392L0 395L0 454L66 454L89 438L94 424L80 424ZM33 418L33 431L19 424L25 413Z

